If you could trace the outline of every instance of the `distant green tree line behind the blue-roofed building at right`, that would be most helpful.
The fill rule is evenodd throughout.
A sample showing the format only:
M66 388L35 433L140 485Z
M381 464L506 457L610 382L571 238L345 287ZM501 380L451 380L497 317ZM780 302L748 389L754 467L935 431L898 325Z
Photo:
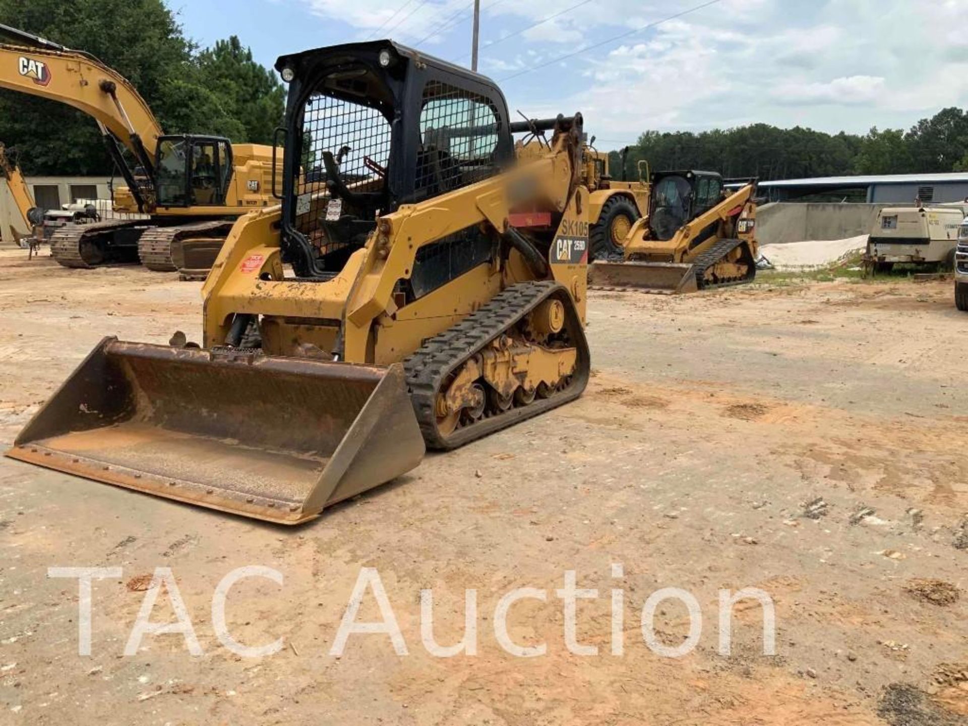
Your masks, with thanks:
M944 108L906 132L873 128L864 136L769 124L699 134L647 131L628 148L627 178L636 178L640 160L652 169L707 169L725 177L756 176L764 181L966 171L968 112ZM612 152L612 165L620 169L617 152Z

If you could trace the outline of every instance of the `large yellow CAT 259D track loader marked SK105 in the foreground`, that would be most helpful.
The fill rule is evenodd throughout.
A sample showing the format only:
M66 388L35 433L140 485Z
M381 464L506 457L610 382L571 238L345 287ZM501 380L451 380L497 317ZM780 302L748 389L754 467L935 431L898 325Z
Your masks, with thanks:
M282 205L228 235L201 346L106 339L8 455L296 524L581 395L581 115L522 162L484 76L390 41L276 67Z

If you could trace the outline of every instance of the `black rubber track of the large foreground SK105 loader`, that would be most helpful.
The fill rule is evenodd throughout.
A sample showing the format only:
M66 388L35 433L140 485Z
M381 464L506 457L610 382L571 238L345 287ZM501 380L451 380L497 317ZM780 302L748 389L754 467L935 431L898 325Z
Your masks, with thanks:
M524 318L538 304L560 295L567 311L567 325L578 348L577 369L571 385L546 399L535 398L527 406L509 408L443 437L437 425L437 397L443 383L469 358ZM404 361L410 400L429 448L453 449L493 434L511 424L556 408L578 398L590 376L590 352L581 319L565 287L553 281L521 283L506 288L467 318L428 340Z

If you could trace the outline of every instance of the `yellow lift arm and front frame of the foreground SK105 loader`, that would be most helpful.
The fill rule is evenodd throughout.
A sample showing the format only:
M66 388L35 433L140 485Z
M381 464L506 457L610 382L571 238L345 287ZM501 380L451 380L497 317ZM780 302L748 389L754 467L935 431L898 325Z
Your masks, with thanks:
M314 283L283 279L278 208L242 218L232 229L202 288L204 345L221 346L234 316L269 315L343 321L343 359L373 363L371 331L381 316L397 312L394 290L413 273L418 252L440 239L478 225L508 232L512 207L540 205L562 213L561 227L584 219L588 191L578 187L578 144L561 133L546 154L461 189L415 204L404 204L379 219L365 248L356 251L333 280ZM509 198L509 190L529 197ZM524 258L519 257L524 264ZM572 292L584 317L585 275L581 264L552 264L555 280ZM531 277L534 274L531 273ZM310 292L311 290L311 292ZM447 326L441 318L440 327Z

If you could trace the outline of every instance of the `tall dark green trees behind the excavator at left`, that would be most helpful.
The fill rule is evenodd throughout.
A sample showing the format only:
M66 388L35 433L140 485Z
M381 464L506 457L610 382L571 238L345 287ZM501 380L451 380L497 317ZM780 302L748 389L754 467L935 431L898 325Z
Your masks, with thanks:
M166 134L271 143L282 120L286 89L274 72L234 36L198 47L163 0L0 0L0 18L127 77ZM0 90L0 141L28 174L112 172L94 120L54 101Z

